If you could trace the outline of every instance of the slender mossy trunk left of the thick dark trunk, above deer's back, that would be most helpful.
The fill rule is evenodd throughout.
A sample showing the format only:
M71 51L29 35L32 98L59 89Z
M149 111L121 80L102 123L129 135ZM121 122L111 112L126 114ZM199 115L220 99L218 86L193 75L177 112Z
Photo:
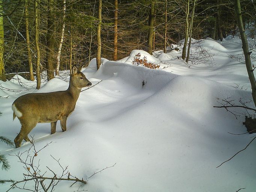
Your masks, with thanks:
M41 77L40 77L40 49L39 49L39 13L38 13L38 1L35 0L35 45L36 45L36 89L40 89Z

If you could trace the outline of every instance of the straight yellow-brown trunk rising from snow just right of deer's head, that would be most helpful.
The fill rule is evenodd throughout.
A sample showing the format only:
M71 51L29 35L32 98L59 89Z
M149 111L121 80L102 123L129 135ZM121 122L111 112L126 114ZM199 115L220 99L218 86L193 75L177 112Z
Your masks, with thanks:
M97 29L97 54L96 54L96 64L97 64L97 70L99 69L99 66L101 65L101 10L102 10L102 0L98 1L98 29Z

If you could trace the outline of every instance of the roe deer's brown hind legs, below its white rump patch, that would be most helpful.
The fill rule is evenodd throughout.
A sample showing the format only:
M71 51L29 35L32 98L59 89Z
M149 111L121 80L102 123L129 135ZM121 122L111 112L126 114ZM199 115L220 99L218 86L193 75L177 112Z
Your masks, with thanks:
M24 123L21 125L20 133L14 139L15 147L18 148L21 146L21 142L24 139L25 141L30 141L28 134L36 126L36 123ZM31 141L30 141L31 142Z

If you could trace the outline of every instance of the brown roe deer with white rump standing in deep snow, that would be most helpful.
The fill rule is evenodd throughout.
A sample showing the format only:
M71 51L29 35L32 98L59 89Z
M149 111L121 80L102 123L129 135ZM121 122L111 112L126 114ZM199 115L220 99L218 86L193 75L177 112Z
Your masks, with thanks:
M57 120L60 120L62 131L66 130L66 120L75 109L75 104L83 87L90 87L92 83L80 72L82 66L72 67L69 87L65 91L50 93L29 93L17 98L12 104L13 119L18 117L21 130L14 139L15 146L21 142L30 141L28 134L37 123L51 123L51 134L56 132Z

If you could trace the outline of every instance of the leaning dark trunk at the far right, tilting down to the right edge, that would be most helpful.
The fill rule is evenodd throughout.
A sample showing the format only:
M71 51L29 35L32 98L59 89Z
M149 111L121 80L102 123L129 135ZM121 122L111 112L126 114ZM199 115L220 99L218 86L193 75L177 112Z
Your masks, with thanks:
M242 40L242 49L244 51L245 66L246 66L248 77L251 83L251 90L252 90L251 95L253 97L254 106L256 107L256 81L253 74L254 70L251 67L251 58L250 58L251 52L249 52L249 49L248 49L247 37L245 34L243 22L242 22L240 0L235 0L235 12L236 12L237 24L238 24L238 28L239 28L239 32Z

